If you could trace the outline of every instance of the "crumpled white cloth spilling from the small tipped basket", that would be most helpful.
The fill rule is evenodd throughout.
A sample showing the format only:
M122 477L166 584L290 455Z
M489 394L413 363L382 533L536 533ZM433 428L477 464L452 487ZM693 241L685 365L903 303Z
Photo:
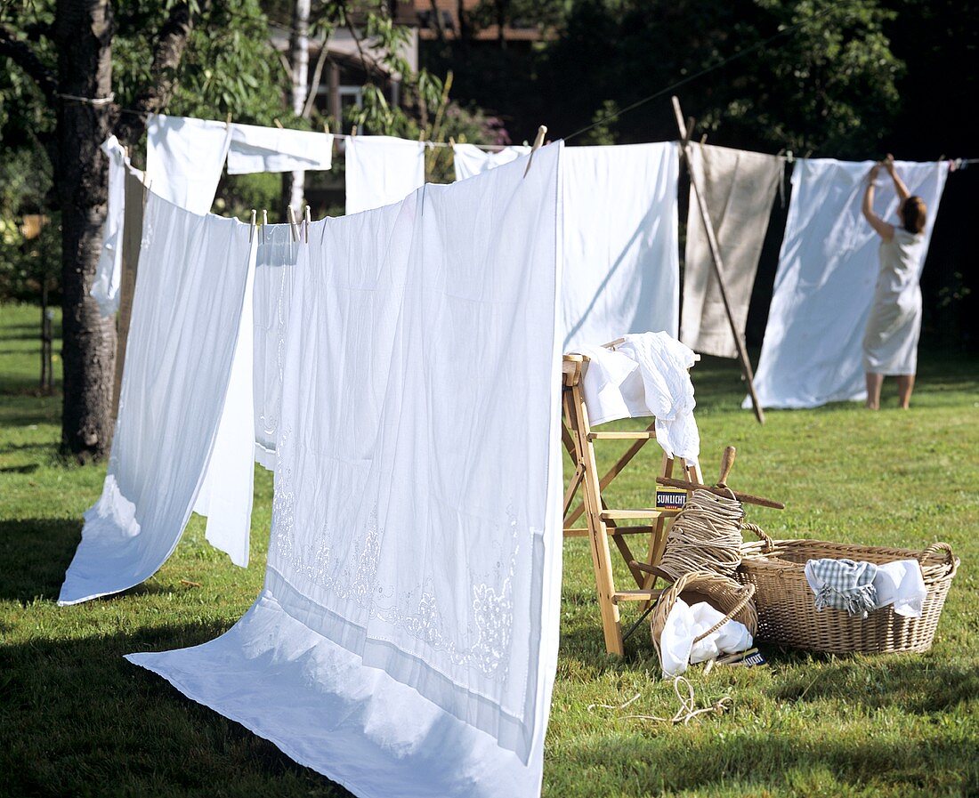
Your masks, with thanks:
M734 654L751 648L752 637L740 621L727 621L717 632L704 639L694 639L721 621L723 612L706 601L687 604L682 598L667 615L667 622L660 634L660 665L664 677L680 676L698 662L717 659L721 654Z

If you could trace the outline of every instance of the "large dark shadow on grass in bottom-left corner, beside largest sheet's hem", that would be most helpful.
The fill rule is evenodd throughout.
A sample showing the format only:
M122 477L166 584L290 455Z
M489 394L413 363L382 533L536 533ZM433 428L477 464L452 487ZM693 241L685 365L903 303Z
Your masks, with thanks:
M87 607L63 612L91 624ZM0 793L349 795L122 658L198 645L224 631L204 620L0 644Z

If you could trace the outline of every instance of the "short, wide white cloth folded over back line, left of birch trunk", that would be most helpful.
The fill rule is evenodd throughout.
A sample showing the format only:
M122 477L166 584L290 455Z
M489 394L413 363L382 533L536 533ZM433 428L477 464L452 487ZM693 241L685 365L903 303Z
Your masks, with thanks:
M333 165L333 136L315 130L287 130L232 124L228 174L316 171Z

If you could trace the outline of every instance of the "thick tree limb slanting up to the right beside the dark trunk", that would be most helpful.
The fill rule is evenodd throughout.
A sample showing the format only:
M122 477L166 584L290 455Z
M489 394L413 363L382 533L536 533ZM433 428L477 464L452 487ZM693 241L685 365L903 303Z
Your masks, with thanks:
M204 3L200 4L202 7ZM203 10L203 9L202 9ZM177 84L177 69L183 58L187 42L194 29L196 18L190 3L177 3L170 9L166 22L160 28L157 46L153 51L150 83L138 95L133 104L137 114L124 114L116 123L116 135L120 142L135 144L146 129L146 116L159 114L173 96Z

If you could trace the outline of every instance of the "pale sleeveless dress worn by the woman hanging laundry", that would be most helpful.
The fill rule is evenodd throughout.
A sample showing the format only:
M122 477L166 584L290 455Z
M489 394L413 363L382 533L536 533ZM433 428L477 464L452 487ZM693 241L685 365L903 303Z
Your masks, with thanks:
M923 235L896 228L880 243L880 271L863 334L863 370L869 374L913 374L921 333L918 277L925 252Z

